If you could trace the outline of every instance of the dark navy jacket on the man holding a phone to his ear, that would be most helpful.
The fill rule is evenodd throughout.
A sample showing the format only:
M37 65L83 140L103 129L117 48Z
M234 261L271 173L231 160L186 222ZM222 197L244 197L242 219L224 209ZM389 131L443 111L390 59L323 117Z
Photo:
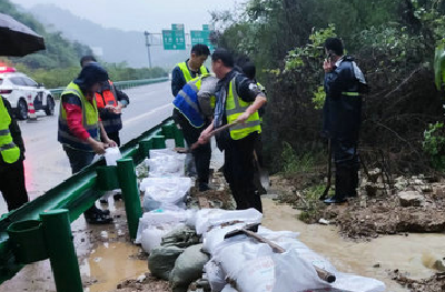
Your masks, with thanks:
M354 59L344 57L334 71L325 74L326 100L323 131L328 138L356 143L362 122L362 71Z

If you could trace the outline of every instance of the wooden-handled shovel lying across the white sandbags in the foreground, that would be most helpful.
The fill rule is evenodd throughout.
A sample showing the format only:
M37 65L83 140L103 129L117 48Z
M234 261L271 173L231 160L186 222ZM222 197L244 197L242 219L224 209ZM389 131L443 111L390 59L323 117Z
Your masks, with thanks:
M230 231L224 236L224 239L229 239L229 238L234 238L234 236L243 234L243 235L253 238L253 239L257 240L258 242L268 244L275 253L286 252L286 250L283 249L281 246L279 246L278 244L276 244L276 243L271 242L270 240L263 238L263 236L258 235L257 233L255 233L254 231L251 231L251 230L258 230L258 225L259 224L248 224L243 229ZM328 272L322 268L318 268L316 265L313 265L313 266L314 266L315 271L317 272L319 279L322 279L323 281L326 281L328 283L335 282L335 280L336 280L335 274L332 274L330 272Z

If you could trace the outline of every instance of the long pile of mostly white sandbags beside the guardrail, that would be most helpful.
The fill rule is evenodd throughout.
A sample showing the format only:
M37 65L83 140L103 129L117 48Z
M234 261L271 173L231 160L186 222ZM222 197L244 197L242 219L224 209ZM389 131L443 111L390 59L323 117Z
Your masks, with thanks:
M169 280L174 292L190 291L197 280L208 286L195 285L194 291L204 292L385 291L380 281L338 272L303 244L298 233L261 226L255 230L256 236L245 232L261 222L263 214L255 209L185 210L181 202L191 181L184 178L185 155L178 155L171 150L150 150L149 178L140 184L149 212L140 219L136 239L150 254L152 275ZM336 281L323 280L320 269Z

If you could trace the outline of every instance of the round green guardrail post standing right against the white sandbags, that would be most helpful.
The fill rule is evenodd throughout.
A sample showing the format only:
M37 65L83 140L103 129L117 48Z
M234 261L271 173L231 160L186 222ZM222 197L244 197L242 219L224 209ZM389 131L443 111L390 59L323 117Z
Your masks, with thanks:
M117 162L118 179L127 212L128 230L130 232L130 238L136 239L139 218L142 217L142 208L140 207L135 164L132 163L132 159L120 159Z

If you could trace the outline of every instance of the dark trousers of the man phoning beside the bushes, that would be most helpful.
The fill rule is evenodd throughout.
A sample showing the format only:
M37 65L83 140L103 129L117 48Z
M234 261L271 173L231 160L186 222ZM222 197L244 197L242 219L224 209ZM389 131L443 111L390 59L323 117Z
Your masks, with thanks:
M335 160L335 197L338 199L355 197L360 167L357 142L332 139L332 143Z

